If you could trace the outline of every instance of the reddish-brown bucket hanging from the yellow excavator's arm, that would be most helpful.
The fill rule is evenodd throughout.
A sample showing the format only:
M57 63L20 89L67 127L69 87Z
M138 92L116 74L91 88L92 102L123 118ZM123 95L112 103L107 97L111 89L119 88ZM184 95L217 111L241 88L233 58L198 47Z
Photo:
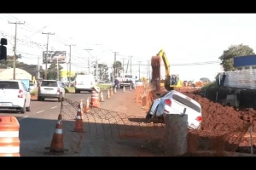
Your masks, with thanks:
M156 91L160 91L160 59L160 56L153 56L151 58L152 85Z

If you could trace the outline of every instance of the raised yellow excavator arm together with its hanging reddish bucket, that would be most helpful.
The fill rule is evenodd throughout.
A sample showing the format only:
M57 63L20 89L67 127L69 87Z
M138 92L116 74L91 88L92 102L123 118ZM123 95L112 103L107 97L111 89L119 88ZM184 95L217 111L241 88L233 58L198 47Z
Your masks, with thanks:
M170 65L168 59L166 57L166 53L164 49L161 49L156 56L151 58L151 66L152 66L152 83L157 91L160 91L160 65L161 59L164 62L166 68L166 79L164 80L166 90L170 91L173 90L171 85L171 76L170 76Z

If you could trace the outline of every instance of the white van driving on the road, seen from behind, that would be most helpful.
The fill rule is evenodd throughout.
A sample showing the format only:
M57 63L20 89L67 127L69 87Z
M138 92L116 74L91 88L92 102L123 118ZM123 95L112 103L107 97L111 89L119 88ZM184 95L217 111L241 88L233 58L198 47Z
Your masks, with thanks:
M81 91L91 92L94 85L96 85L96 81L93 75L77 75L74 82L75 93L79 94Z

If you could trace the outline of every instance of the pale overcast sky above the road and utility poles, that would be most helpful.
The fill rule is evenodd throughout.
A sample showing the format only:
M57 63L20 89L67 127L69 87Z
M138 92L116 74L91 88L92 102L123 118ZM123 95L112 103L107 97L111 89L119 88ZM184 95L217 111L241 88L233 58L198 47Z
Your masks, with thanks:
M15 25L17 54L26 64L43 64L49 35L49 50L71 48L73 71L88 71L90 61L112 65L132 56L132 72L147 77L148 60L161 48L171 65L171 74L182 80L213 80L222 70L218 57L230 45L246 44L256 48L256 14L0 14L0 35L9 40L8 54L13 54ZM84 49L93 49L86 51ZM69 58L68 58L69 59ZM66 64L62 65L64 69ZM130 71L130 68L129 70Z

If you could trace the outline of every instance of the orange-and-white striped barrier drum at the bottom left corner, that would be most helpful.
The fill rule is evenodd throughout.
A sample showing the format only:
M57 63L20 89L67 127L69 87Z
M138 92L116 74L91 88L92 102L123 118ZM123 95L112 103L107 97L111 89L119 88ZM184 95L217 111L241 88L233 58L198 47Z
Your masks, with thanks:
M0 116L0 156L20 156L19 130L15 116Z

